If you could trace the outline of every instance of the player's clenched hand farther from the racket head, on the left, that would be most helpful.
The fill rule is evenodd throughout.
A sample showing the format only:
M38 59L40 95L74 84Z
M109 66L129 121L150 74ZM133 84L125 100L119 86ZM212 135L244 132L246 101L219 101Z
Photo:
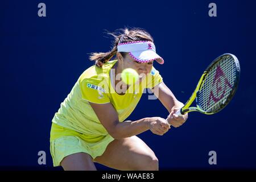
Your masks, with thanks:
M160 117L148 118L148 124L150 131L156 135L163 135L170 129L166 119Z

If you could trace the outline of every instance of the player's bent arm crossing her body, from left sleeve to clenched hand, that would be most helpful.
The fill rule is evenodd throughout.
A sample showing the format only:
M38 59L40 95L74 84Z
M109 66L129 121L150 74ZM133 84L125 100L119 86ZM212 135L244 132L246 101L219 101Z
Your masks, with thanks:
M144 131L151 130L152 133L163 135L170 129L165 119L160 117L143 118L137 121L119 122L118 113L111 103L93 104L89 102L96 113L101 124L115 139L131 137Z

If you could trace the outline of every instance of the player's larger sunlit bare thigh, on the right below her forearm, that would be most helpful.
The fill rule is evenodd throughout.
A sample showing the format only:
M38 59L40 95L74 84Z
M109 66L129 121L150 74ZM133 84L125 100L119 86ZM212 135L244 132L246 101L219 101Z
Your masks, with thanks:
M119 170L158 170L154 152L136 136L113 140L94 162Z

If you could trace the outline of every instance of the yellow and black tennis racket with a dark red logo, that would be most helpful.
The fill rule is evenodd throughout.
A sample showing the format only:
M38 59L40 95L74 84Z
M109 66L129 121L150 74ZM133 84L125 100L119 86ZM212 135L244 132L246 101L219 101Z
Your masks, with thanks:
M191 111L215 114L232 100L240 80L240 64L236 56L225 53L217 57L205 69L195 91L187 103L175 114L183 115ZM196 100L196 107L190 107Z

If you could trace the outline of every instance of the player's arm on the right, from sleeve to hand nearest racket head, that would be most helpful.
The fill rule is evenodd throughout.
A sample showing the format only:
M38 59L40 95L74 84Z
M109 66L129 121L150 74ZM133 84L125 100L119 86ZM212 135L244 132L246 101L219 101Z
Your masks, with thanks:
M184 104L176 99L171 90L161 82L151 89L155 96L162 102L164 107L169 111L167 121L174 127L181 126L187 119L188 114L184 114L182 117L176 115L175 112L179 110Z

